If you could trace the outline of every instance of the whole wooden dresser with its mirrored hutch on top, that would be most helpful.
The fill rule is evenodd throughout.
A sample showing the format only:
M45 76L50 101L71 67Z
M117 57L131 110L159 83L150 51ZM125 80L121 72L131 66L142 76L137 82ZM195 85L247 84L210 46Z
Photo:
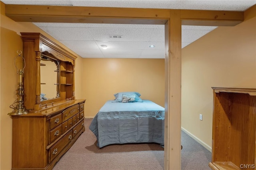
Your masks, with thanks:
M18 95L28 113L10 114L12 170L51 170L84 132L86 100L75 98L77 56L41 33L21 38L26 67Z

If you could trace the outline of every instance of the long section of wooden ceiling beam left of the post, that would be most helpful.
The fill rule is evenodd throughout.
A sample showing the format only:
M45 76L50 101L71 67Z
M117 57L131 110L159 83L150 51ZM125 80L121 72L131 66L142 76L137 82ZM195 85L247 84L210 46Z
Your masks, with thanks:
M165 24L170 18L164 9L6 5L5 10L20 22Z

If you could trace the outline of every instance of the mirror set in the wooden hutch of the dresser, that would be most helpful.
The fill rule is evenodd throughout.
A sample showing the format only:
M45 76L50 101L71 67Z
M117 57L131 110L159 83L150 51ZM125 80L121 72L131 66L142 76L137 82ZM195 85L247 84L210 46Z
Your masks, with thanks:
M40 101L60 97L60 61L46 55L41 55L41 95Z

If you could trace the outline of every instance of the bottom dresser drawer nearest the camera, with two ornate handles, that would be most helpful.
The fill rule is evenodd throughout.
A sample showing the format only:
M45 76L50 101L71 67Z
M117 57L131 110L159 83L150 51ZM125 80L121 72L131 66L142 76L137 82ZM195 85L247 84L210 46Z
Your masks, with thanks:
M50 162L52 162L52 160L54 160L54 158L56 158L56 156L58 156L58 154L62 152L62 150L72 141L72 139L73 139L72 131L70 131L60 141L58 141L58 143L56 143L50 148L50 152L49 152Z

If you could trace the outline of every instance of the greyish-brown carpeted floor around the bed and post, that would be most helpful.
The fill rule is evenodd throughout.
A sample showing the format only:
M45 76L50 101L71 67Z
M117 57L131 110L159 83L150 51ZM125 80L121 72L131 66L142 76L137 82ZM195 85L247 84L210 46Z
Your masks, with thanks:
M85 132L53 170L163 170L164 149L158 144L108 145L99 149L85 119ZM210 170L211 152L182 132L182 170Z

